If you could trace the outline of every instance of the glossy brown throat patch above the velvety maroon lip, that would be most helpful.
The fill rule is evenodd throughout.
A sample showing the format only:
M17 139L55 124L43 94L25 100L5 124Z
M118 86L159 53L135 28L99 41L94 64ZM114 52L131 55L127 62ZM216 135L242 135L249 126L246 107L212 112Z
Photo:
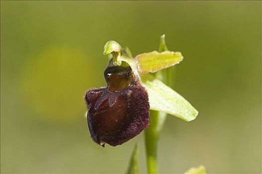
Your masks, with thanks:
M108 67L104 72L108 84L108 91L120 91L134 84L134 75L131 67Z

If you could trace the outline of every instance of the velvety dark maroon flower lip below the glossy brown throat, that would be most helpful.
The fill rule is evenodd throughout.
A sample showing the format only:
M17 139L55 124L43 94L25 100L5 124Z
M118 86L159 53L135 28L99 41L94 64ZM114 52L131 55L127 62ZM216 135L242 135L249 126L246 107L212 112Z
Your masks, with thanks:
M98 97L98 99L104 96L101 102L108 103L104 103L95 109L98 100L93 99L90 103L88 100L91 93L95 93L94 98ZM100 96L98 96L97 93ZM119 101L117 101L118 98L115 101L110 101L112 95L116 95L116 93L122 98L122 100L120 100L122 107L125 105L125 107L122 108L124 113L121 115L110 115L110 113L118 111L117 107L114 107L119 104ZM109 94L111 96L108 97ZM88 103L88 126L92 139L100 145L108 143L111 146L117 146L127 142L147 128L149 125L149 104L148 98L144 100L144 97L147 97L147 93L139 86L127 87L119 92L108 92L106 88L87 91L85 99ZM111 105L110 102L113 104ZM103 108L105 106L106 108ZM100 109L101 107L102 109ZM95 110L96 113L100 113L94 113ZM103 114L104 112L106 112L106 114ZM102 120L99 119L101 117L103 117ZM116 125L114 119L120 121L120 123Z

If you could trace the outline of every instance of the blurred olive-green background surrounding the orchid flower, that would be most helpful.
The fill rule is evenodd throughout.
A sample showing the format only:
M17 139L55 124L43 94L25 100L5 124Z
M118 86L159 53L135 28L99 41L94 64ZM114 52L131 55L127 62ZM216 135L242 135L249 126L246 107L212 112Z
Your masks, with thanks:
M261 173L261 1L1 1L1 173L126 171L135 142L92 142L83 94L106 83L106 41L137 55L166 34L181 51L175 90L199 116L168 116L160 173Z

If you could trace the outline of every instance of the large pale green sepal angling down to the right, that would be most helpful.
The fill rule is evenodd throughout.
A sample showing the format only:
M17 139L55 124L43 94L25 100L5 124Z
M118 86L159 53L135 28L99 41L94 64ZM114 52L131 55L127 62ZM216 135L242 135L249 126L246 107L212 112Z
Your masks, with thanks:
M150 109L169 113L185 121L192 121L198 111L181 95L150 74L141 75L141 84L147 90Z

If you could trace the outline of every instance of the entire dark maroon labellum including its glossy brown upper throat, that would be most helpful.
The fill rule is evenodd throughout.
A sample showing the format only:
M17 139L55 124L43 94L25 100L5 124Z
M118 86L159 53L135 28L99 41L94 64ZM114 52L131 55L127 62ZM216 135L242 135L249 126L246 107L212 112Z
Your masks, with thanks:
M88 127L99 145L117 146L148 127L148 95L130 67L108 67L104 76L108 87L85 93Z

